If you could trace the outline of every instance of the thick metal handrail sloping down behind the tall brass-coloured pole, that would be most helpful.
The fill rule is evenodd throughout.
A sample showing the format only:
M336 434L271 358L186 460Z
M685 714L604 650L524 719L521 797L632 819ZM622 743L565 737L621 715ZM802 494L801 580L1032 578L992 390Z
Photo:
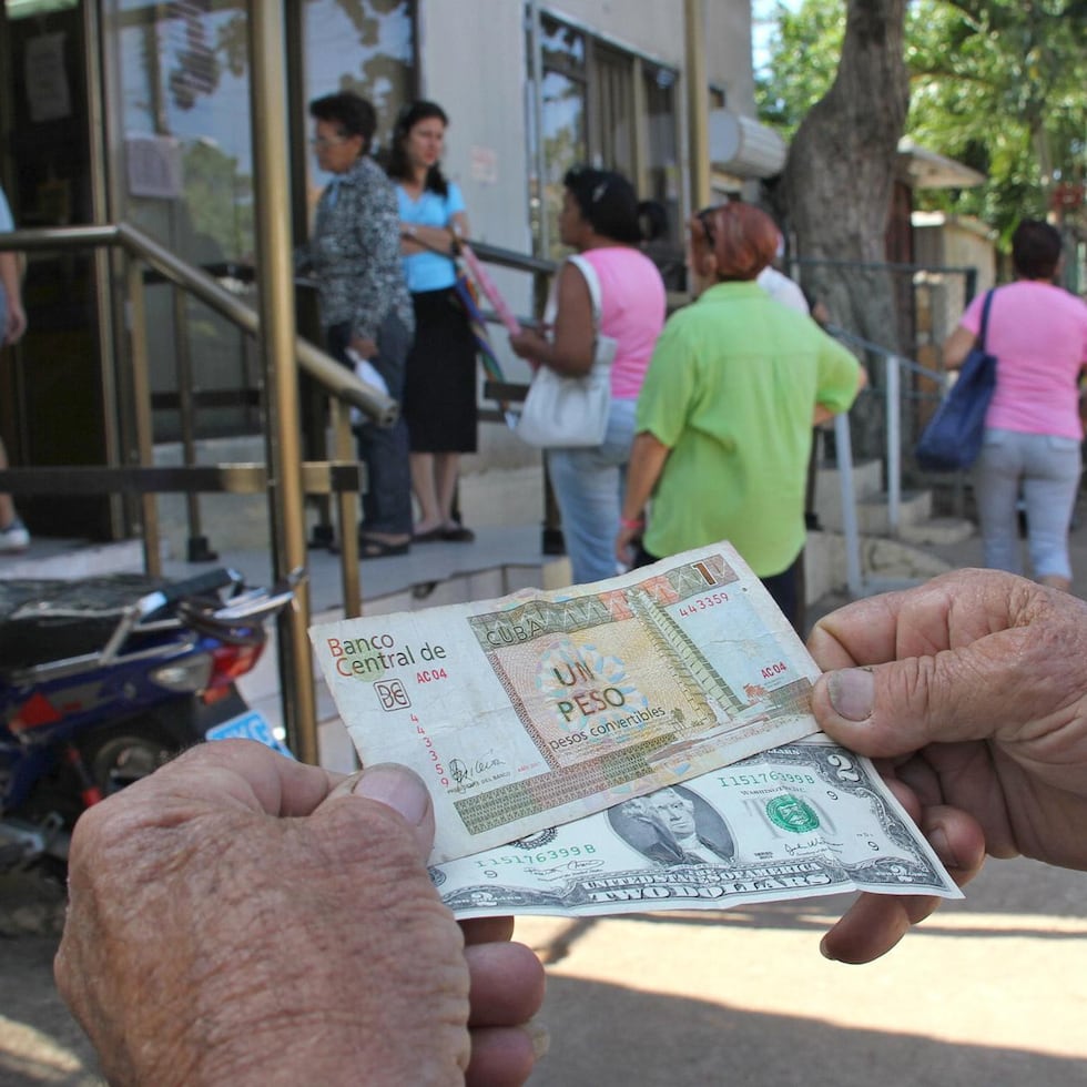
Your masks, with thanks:
M108 226L63 226L39 230L12 231L0 234L0 251L96 248L120 245L153 267L163 278L181 287L216 313L253 336L260 335L261 317L257 312L219 284L201 268L193 267L143 231L128 223ZM295 353L302 368L316 380L329 396L364 412L380 426L396 421L399 405L372 385L360 382L349 369L331 355L301 337L295 341Z

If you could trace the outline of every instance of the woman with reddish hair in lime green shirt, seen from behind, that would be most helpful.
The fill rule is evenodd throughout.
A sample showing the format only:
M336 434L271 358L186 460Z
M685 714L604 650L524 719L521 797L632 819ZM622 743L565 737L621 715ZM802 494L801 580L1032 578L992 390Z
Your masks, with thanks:
M730 540L795 622L812 425L849 409L864 370L754 282L778 245L769 215L730 203L689 228L698 299L646 375L616 555L640 566Z

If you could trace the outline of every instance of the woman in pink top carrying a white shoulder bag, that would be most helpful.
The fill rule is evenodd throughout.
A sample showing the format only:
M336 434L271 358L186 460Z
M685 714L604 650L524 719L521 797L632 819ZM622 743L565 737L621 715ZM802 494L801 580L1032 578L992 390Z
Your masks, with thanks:
M599 446L549 449L547 466L562 516L562 537L573 583L614 577L612 542L627 461L634 438L634 406L649 359L664 326L664 284L657 266L638 248L646 205L630 182L608 170L571 170L559 236L591 265L600 281L600 331L617 344L611 364L611 412ZM550 338L525 331L510 337L522 358L560 374L589 372L596 341L585 276L563 264L556 277L557 308Z

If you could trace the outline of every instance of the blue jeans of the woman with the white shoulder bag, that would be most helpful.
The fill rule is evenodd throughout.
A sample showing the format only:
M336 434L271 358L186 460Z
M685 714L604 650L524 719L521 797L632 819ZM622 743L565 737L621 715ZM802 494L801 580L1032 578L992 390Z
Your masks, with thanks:
M573 585L613 578L618 572L616 537L634 440L636 403L611 402L602 445L547 451Z

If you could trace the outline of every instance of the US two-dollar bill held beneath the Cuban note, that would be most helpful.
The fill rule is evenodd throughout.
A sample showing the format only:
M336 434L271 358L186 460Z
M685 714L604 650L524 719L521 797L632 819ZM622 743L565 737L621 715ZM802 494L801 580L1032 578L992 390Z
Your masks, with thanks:
M963 897L872 764L822 734L430 876L461 918L724 910L849 891Z

